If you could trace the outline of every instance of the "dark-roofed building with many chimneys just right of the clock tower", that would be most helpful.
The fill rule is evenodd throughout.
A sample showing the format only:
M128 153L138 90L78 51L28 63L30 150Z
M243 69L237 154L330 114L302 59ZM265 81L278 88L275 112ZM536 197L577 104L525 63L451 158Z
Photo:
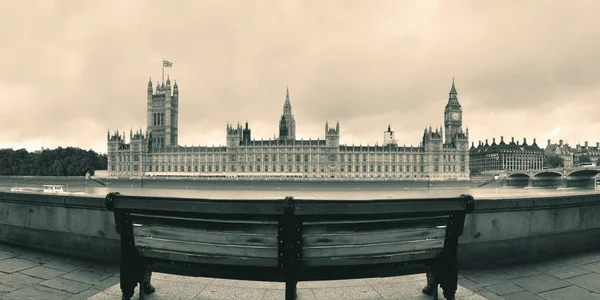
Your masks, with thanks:
M541 169L544 165L544 150L538 147L535 139L531 145L527 144L525 138L521 145L518 141L515 143L514 138L508 144L504 142L504 137L500 137L498 144L496 138L493 138L491 145L486 139L485 144L479 141L477 147L471 144L469 162L471 171L482 173Z

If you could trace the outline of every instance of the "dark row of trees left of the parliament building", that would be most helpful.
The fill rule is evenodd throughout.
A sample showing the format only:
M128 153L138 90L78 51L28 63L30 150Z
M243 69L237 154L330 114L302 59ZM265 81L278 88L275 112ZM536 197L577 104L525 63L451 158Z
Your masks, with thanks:
M87 172L94 175L95 170L106 170L106 166L106 154L74 147L41 152L0 150L0 175L84 176Z

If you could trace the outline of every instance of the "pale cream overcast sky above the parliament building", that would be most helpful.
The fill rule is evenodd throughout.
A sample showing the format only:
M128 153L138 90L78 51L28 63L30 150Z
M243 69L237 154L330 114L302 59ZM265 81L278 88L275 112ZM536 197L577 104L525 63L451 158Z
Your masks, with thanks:
M106 152L146 128L149 77L180 91L179 143L227 122L299 138L417 145L443 125L452 77L471 141L600 141L598 1L3 1L0 148Z

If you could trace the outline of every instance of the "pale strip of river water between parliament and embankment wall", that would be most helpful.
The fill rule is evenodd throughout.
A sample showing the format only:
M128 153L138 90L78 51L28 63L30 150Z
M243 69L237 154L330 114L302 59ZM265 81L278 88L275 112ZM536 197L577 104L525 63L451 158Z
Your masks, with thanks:
M138 181L111 182L101 186L81 179L22 180L0 178L0 191L12 187L37 187L42 184L61 184L66 191L103 197L110 192L127 195L216 199L316 198L316 199L389 199L439 198L471 194L475 199L523 198L596 193L594 189L516 188L431 186L402 182L210 182L210 181Z

